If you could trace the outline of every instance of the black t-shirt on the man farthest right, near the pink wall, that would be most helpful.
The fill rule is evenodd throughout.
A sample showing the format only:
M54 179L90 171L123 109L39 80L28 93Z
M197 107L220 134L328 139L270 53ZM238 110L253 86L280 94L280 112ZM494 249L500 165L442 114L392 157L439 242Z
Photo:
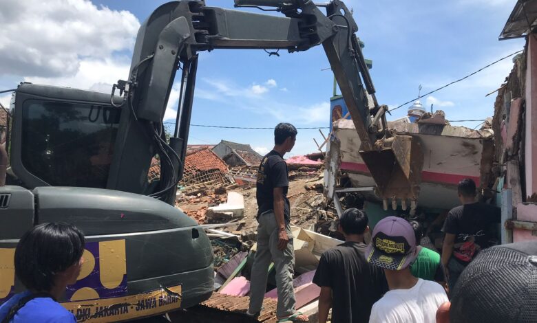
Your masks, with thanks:
M482 202L470 203L450 210L443 232L455 234L455 244L464 243L473 237L474 243L485 249L490 247L491 240L494 239L492 223L500 222L500 208Z

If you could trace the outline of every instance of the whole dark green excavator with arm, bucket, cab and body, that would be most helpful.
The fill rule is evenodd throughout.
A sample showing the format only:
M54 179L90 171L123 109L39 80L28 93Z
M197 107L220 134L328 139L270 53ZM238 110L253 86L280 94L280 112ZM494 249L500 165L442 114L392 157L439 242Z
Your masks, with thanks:
M140 26L129 77L110 95L26 82L14 91L0 152L3 159L9 152L10 164L0 187L0 303L23 289L12 261L18 239L53 221L73 223L87 239L85 267L62 300L79 322L161 315L211 296L209 238L174 204L198 58L214 49L299 53L322 45L377 195L415 208L420 144L388 129L388 107L377 103L344 2L235 0L235 7L281 15L171 1ZM167 141L162 120L178 71L176 126ZM149 182L153 158L160 160L160 178Z

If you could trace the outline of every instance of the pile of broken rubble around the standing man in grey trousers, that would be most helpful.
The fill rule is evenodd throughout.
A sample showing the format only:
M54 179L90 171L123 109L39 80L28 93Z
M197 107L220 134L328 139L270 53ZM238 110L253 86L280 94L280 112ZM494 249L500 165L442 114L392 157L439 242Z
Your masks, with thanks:
M236 150L232 152L236 153ZM334 236L334 227L337 227L334 225L337 214L333 207L326 205L323 194L323 158L317 153L288 160L287 197L295 236L295 293L299 307L306 310L310 307L314 312L319 293L312 293L311 289L318 287L311 280L319 258L324 250L341 243L330 237ZM200 172L198 170L198 174ZM222 307L222 310L236 312L242 309L238 306L244 303L242 298L249 295L250 270L256 251L257 166L231 166L226 177L233 179L232 185L212 180L204 181L202 185L194 183L190 188L195 190L182 188L178 191L176 206L200 223L211 239L216 293L203 306L220 309L223 306L221 300L226 299L233 306ZM269 271L273 273L273 266ZM267 304L275 304L276 297L274 274L271 275L265 296ZM272 310L267 311L264 318L272 322L273 314Z

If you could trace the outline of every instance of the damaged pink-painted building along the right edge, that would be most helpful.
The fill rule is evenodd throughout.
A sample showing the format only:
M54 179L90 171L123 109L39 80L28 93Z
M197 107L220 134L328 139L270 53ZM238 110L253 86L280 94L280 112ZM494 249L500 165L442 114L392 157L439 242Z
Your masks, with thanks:
M500 35L526 38L494 107L502 243L537 240L537 34L529 30L536 14L537 1L519 0Z

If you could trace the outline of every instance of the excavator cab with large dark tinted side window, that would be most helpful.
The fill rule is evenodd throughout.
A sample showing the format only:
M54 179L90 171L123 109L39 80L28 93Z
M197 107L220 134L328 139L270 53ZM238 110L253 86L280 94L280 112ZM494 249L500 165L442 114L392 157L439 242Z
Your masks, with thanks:
M25 187L107 187L122 110L104 94L80 100L81 93L31 84L17 89L9 148L12 171Z

